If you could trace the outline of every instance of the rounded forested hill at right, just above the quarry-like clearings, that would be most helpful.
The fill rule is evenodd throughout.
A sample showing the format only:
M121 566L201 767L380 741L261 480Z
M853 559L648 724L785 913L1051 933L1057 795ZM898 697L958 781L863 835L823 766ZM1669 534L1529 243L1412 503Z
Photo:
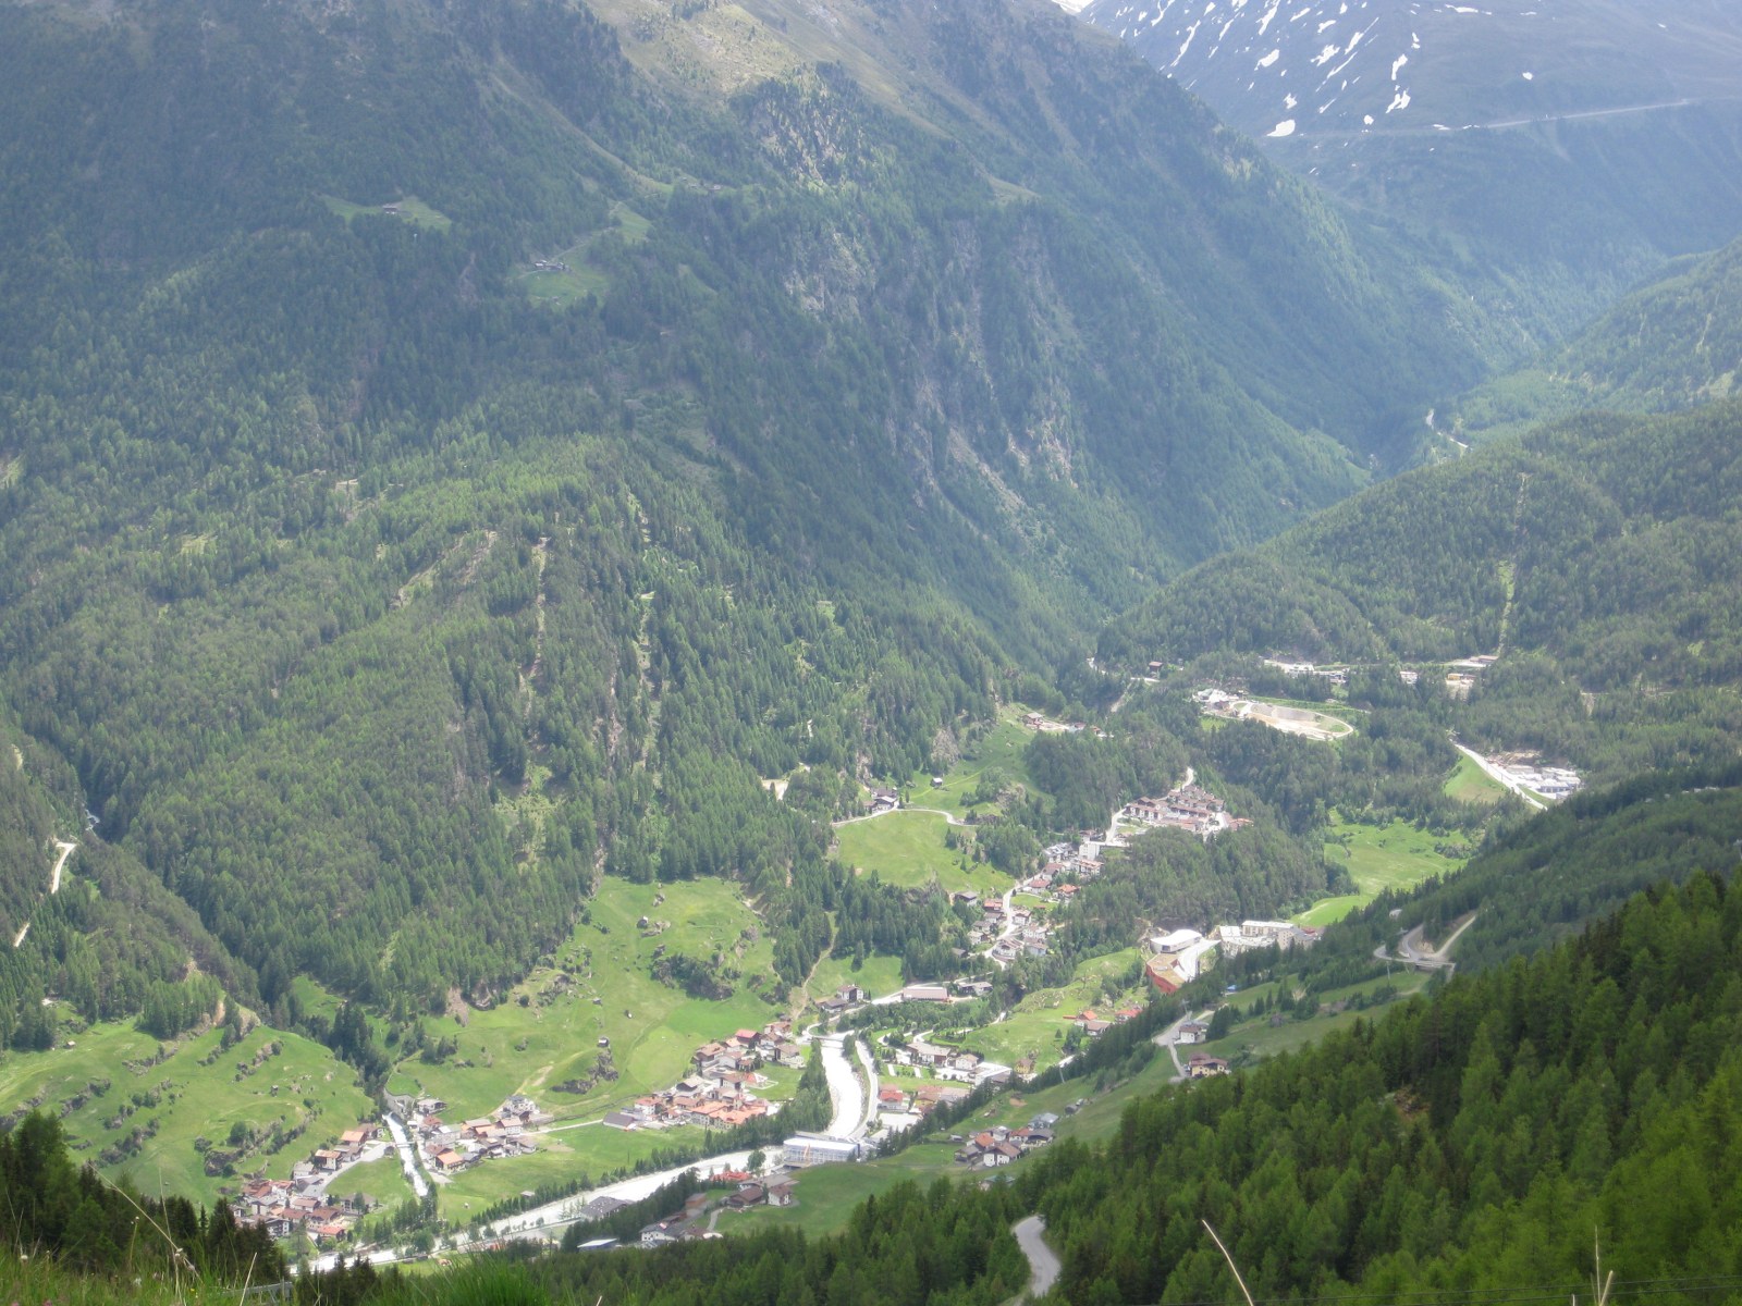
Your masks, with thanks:
M1101 656L1552 660L1590 691L1735 684L1742 406L1568 418L1195 568ZM1556 677L1557 679L1557 677Z

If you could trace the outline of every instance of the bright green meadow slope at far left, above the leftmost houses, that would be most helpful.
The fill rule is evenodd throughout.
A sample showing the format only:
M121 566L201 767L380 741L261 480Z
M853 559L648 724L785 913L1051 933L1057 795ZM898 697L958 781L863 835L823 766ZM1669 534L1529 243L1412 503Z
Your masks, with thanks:
M239 1179L207 1177L204 1156L193 1148L197 1137L228 1148L230 1130L240 1123L263 1137L261 1146L237 1163L237 1172L263 1168L268 1177L282 1179L315 1148L375 1118L375 1104L357 1087L355 1073L319 1043L277 1029L254 1029L200 1066L218 1052L219 1040L216 1029L186 1038L169 1045L174 1050L165 1060L145 1066L159 1054L159 1040L141 1034L131 1022L92 1026L77 1034L77 1047L0 1057L0 1104L17 1109L38 1101L61 1113L92 1081L106 1080L106 1092L64 1114L75 1155L99 1163L106 1174L131 1174L146 1193L162 1189L202 1202L211 1202L219 1184L235 1186ZM268 1043L282 1052L253 1067ZM286 1130L305 1128L277 1153L268 1153L265 1134L273 1123ZM155 1134L132 1156L99 1161L105 1149L132 1130L153 1127Z

